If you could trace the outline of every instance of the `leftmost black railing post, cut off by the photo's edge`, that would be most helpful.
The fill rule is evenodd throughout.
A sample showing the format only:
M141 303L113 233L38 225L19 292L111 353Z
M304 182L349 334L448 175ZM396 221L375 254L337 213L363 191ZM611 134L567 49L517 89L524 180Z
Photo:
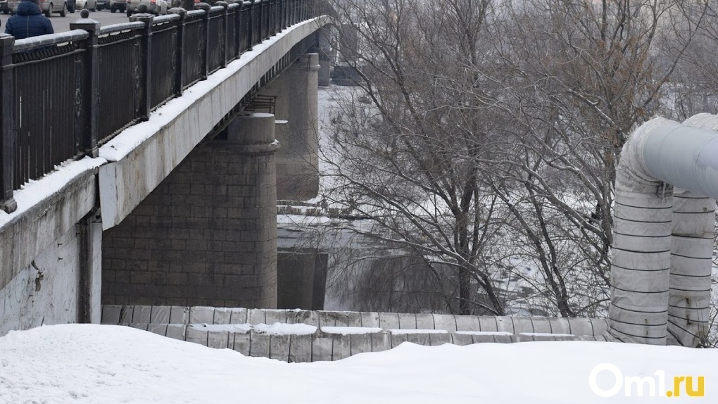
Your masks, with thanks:
M12 83L12 51L15 47L15 37L9 34L0 34L0 52L2 55L2 72L0 73L0 209L7 213L17 210L17 202L13 197L14 145L17 137L15 131L15 100Z

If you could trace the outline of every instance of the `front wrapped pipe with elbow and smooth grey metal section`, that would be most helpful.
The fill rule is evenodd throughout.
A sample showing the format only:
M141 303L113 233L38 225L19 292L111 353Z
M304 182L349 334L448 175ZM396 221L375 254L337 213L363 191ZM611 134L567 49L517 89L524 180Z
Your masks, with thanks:
M673 240L679 240L673 232L683 231L673 226L673 186L718 197L718 133L655 118L630 136L616 173L609 332L621 341L666 344L671 281L676 299L685 299L681 289L702 293L679 282L694 274L703 277L694 263L678 263L681 269L671 276ZM686 251L680 240L675 248ZM712 243L701 254L710 256ZM676 305L671 330L683 325L675 321L679 316L687 323L700 313L695 304L687 311Z

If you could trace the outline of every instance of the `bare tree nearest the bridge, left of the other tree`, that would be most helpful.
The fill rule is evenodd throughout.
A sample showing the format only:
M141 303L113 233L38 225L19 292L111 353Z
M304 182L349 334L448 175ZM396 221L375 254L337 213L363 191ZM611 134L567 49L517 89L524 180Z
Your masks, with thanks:
M458 312L504 314L488 271L495 196L480 181L495 120L463 88L485 48L490 1L370 0L340 6L358 46L361 100L345 103L329 159L335 202L370 217L367 237L455 268ZM340 196L340 197L339 197ZM437 276L438 271L436 271ZM476 285L481 293L476 293Z

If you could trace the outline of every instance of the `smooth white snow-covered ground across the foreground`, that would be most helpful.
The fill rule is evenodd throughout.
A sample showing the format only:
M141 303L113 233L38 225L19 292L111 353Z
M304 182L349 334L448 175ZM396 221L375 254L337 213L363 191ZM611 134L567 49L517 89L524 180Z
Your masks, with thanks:
M0 403L644 403L668 400L681 376L697 393L703 377L704 397L681 385L669 402L717 403L717 362L715 349L524 342L404 343L287 364L129 327L68 324L0 338ZM626 397L625 377L638 376L647 377L645 396L663 396L639 398L633 381Z

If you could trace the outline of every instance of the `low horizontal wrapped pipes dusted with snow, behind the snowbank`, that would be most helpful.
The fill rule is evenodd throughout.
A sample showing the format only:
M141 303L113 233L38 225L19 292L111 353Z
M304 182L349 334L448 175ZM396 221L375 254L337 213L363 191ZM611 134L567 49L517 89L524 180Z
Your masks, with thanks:
M103 306L103 323L286 362L340 360L402 342L605 342L602 334L608 329L605 319L108 305Z

